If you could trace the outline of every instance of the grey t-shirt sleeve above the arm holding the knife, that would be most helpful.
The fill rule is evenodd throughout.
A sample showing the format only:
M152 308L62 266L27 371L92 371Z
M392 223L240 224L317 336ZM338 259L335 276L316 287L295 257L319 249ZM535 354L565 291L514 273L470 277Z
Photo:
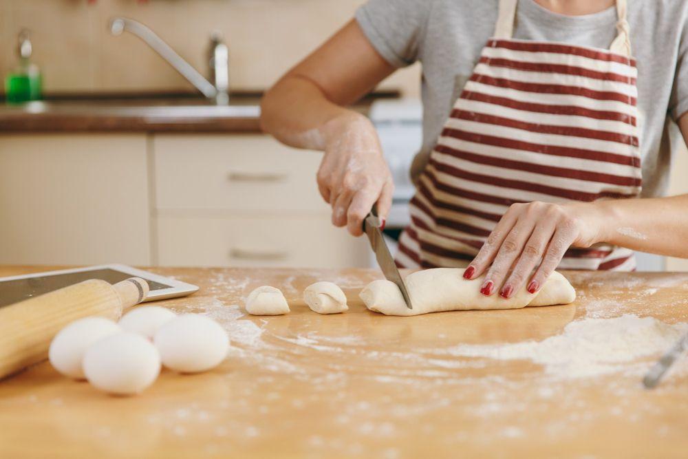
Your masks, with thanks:
M369 0L356 10L356 21L385 61L394 67L406 67L420 58L431 3Z

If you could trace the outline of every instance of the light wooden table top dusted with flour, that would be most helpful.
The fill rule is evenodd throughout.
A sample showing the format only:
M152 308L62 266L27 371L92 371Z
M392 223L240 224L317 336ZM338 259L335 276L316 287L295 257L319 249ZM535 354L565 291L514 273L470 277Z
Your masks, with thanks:
M566 273L579 292L568 306L385 317L357 296L379 277L373 270L151 271L201 287L160 304L215 317L234 343L229 358L206 374L164 371L129 398L37 365L0 383L1 458L688 454L686 361L646 391L640 376L650 359L561 378L533 361L445 352L541 341L586 317L688 322L688 274ZM345 314L321 316L301 300L305 286L324 279L344 288ZM244 316L238 305L263 284L283 290L290 314Z

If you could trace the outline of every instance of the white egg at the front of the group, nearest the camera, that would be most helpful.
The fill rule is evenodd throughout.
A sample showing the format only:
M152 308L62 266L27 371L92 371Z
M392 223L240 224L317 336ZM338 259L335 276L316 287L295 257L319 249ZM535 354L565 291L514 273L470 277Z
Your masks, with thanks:
M146 337L121 332L100 339L86 351L84 373L103 392L140 394L158 378L160 355Z

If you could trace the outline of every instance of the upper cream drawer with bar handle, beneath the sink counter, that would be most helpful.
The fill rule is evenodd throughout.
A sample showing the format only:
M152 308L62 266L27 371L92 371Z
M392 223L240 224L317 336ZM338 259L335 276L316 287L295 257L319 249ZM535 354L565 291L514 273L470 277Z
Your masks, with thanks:
M322 154L264 135L155 135L157 209L329 211L318 192Z

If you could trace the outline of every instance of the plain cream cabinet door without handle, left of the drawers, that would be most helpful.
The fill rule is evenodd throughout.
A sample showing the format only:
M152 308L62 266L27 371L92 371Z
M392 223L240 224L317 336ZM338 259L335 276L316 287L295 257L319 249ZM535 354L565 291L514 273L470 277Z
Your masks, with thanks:
M150 264L146 136L0 136L0 264Z

